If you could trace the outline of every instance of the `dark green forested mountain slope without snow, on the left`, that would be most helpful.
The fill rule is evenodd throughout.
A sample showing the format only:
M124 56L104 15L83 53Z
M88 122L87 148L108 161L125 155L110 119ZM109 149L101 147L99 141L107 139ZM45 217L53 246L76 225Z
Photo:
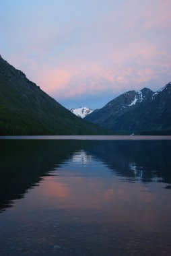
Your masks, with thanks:
M99 135L0 56L0 135Z

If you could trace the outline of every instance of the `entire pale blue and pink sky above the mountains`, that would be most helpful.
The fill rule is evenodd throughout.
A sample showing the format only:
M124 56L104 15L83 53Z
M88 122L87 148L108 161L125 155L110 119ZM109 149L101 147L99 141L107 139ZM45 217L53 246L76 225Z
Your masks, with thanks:
M67 108L171 81L170 0L2 0L0 54Z

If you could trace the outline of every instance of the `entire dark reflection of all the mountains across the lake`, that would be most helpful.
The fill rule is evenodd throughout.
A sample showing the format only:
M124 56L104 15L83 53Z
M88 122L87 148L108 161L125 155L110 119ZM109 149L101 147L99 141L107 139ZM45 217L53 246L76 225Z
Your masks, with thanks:
M43 141L0 143L0 209L38 185L66 161L90 166L98 160L124 182L171 184L171 141ZM88 170L87 170L88 171Z

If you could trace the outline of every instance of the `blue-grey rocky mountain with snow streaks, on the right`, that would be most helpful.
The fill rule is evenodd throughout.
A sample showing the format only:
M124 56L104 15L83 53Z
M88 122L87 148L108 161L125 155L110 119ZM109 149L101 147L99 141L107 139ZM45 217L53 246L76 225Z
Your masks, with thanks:
M171 82L157 92L125 92L86 120L122 134L171 134Z

